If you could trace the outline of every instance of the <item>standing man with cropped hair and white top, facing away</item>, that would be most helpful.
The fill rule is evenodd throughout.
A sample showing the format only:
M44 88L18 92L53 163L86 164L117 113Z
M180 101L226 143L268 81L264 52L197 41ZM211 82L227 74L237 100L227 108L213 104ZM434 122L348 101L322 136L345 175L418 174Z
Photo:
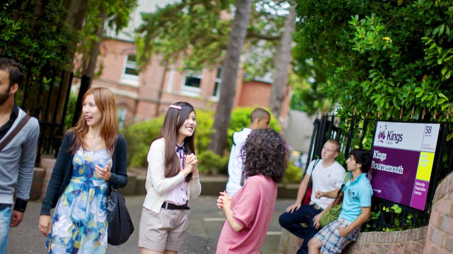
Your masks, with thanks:
M249 128L233 133L233 146L228 161L228 183L226 183L226 192L230 196L233 196L244 185L242 179L242 146L252 130L269 128L269 122L270 113L266 109L255 108L250 114Z

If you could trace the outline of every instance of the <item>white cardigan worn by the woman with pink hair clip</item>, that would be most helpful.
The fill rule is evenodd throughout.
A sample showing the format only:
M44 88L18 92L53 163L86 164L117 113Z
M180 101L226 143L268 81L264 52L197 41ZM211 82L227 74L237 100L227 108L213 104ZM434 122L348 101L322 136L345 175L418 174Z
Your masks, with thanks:
M153 212L159 213L164 203L167 192L175 188L184 181L184 174L179 172L174 177L165 177L165 140L164 138L155 140L148 152L148 172L146 175L146 197L143 207ZM187 184L187 195L196 198L201 193L200 178L197 181L190 180Z

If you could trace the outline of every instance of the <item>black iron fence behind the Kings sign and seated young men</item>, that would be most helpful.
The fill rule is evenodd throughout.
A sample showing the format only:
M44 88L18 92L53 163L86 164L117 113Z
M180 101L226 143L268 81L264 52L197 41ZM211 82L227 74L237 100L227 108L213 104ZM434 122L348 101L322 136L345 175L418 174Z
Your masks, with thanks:
M321 157L323 145L329 139L340 142L340 155L337 161L345 165L345 161L353 148L371 148L377 121L377 119L357 115L350 118L340 118L333 114L326 114L321 119L315 119L306 165L313 159ZM435 163L431 173L425 209L422 211L373 196L371 219L363 225L362 230L398 230L428 224L437 184L452 171L453 164L453 139L446 141L448 130L453 124L452 122L441 122L440 124L438 150L434 158Z

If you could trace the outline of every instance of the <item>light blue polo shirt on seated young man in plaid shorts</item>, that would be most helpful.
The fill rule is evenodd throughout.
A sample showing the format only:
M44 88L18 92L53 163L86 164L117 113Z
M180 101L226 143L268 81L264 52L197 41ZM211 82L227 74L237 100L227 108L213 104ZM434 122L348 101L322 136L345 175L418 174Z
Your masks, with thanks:
M349 222L353 222L362 213L361 207L371 206L371 196L373 195L373 189L365 173L360 174L354 181L351 182L351 180L350 175L344 185L343 205L338 216Z

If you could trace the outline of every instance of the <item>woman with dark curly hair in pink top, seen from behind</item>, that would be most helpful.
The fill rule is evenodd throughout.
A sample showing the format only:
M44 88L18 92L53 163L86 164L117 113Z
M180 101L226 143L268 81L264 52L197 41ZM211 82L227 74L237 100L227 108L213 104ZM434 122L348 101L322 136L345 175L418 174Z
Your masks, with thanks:
M217 254L259 253L277 199L277 183L287 166L288 149L272 129L253 130L241 150L244 186L233 197L220 192L218 208L225 213Z

